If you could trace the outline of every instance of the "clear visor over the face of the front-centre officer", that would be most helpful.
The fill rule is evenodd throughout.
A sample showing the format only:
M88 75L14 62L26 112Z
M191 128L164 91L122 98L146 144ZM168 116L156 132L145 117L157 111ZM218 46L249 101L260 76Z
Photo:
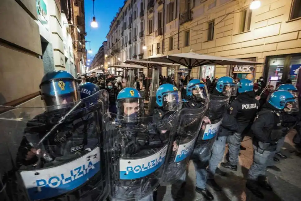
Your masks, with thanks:
M125 98L116 101L119 122L138 122L142 117L143 99Z

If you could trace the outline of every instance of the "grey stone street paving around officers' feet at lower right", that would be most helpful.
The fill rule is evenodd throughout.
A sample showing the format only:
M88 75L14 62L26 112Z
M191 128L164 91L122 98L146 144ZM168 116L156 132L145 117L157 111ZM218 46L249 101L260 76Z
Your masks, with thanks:
M282 153L288 156L287 159L280 159L276 166L282 172L273 170L267 171L269 183L273 187L273 192L262 190L265 195L264 200L269 201L299 201L301 200L301 158L294 151L292 138L295 133L287 135ZM242 145L247 148L241 151L239 156L240 166L236 172L222 169L227 172L227 177L217 177L216 181L222 186L222 192L215 192L212 188L208 188L214 195L215 201L262 201L255 197L248 189L246 189L246 175L248 169L252 165L252 139L245 137ZM227 152L227 149L226 149ZM195 192L195 171L194 166L189 163L189 173L187 184L185 186L185 198L182 201L203 201L203 196ZM171 186L160 187L158 189L157 201L170 201ZM165 195L164 195L165 194ZM164 197L163 197L164 196Z

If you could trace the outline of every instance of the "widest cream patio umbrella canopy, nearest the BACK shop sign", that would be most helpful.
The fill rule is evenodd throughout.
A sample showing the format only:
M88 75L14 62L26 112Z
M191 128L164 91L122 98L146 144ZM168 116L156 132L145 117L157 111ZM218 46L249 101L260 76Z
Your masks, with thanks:
M257 65L262 64L259 62L251 62L241 59L233 59L226 57L216 57L206 54L198 53L179 53L171 54L160 57L150 57L148 59L151 62L164 62L164 63L173 63L186 66L188 68L188 75L190 78L191 69L203 65Z

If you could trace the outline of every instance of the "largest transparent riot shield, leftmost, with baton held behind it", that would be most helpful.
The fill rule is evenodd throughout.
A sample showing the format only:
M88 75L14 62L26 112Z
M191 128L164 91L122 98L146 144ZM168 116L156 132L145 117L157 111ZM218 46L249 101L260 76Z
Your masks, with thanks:
M100 124L106 97L101 90L56 110L37 104L40 97L0 107L1 181L10 201L94 201L108 195Z

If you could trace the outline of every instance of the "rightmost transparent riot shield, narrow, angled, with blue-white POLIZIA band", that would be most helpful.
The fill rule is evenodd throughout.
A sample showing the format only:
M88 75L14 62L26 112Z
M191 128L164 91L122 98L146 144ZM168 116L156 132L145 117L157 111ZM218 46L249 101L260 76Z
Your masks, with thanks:
M231 96L215 96L210 94L208 117L211 124L207 124L203 130L200 130L200 135L198 136L192 154L193 159L202 159L210 154L230 97Z

